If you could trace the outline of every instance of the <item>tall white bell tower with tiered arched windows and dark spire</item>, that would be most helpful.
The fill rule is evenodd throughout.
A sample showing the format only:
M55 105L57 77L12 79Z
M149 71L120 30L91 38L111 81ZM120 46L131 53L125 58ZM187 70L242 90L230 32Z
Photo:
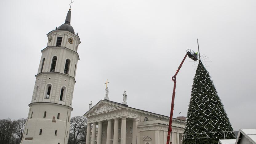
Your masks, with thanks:
M71 9L65 23L47 34L41 50L38 73L21 144L67 144L75 74L81 43L70 25Z

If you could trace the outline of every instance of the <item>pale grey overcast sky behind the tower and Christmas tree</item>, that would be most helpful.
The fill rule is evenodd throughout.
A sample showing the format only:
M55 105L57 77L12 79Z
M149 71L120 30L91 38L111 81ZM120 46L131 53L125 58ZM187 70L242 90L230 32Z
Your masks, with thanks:
M0 3L0 119L26 118L40 50L70 0ZM111 101L122 102L126 90L128 106L168 116L171 76L198 38L234 129L256 128L255 7L255 0L75 0L71 25L82 43L72 116L104 98L106 79ZM187 114L196 66L187 58L177 75L175 118Z

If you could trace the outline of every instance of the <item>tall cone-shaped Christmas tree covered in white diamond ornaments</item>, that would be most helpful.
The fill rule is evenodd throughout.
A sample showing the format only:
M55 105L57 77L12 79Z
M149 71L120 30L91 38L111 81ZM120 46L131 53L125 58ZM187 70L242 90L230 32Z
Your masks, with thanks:
M233 127L209 72L199 60L193 80L182 144L217 144L235 139Z

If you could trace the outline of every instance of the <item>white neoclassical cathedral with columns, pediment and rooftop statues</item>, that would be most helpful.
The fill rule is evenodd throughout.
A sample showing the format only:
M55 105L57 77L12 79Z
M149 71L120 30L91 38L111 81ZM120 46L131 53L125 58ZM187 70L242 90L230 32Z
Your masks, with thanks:
M166 144L168 116L129 107L126 98L110 101L107 95L83 115L88 119L86 144ZM172 144L182 143L184 128L185 120L173 118Z

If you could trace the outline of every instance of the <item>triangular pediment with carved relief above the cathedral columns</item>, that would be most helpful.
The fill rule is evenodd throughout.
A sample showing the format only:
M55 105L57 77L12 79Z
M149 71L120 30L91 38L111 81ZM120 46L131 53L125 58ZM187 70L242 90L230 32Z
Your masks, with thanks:
M122 106L118 106L118 105L112 104L110 102L105 102L104 100L102 100L102 101L98 102L94 107L92 107L85 115L98 114L98 113L102 113L102 112L105 112L108 110L118 109L120 107L122 107Z

